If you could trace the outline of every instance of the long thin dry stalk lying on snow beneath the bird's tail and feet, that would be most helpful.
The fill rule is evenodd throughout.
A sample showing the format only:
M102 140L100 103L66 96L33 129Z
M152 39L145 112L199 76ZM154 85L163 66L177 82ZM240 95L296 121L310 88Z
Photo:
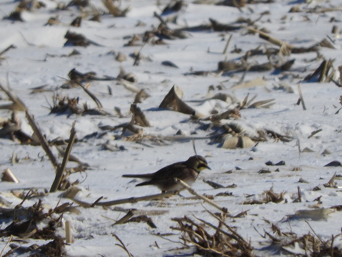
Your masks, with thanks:
M172 195L178 194L177 191L170 191L166 193L156 194L156 195L147 195L142 197L130 197L120 200L114 200L114 201L107 201L107 202L101 202L96 203L97 206L111 206L111 205L118 205L118 204L127 204L127 203L137 203L139 201L146 201L146 200L153 200L153 199L159 199L159 198L165 198ZM72 199L75 203L84 206L84 207L90 207L92 204L86 203L84 201Z

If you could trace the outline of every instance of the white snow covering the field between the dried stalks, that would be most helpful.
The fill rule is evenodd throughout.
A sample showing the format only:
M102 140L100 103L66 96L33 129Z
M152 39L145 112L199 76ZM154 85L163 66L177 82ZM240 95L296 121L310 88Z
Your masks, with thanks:
M216 195L220 192L232 192L232 196L215 196L214 201L226 207L233 215L246 211L247 215L240 218L227 219L227 223L237 229L237 232L251 241L255 248L255 254L259 256L281 255L269 246L269 239L263 238L260 234L271 231L271 225L265 220L278 225L283 231L292 231L298 235L314 232L323 240L328 240L331 235L341 232L340 213L335 211L326 219L291 219L287 221L287 215L293 215L297 210L311 209L317 204L314 201L320 197L322 202L319 207L330 208L341 205L342 192L339 188L324 187L332 175L342 175L341 167L324 167L333 160L341 160L341 113L336 113L341 107L341 88L334 83L304 82L303 78L314 72L323 59L315 60L316 53L291 54L283 58L295 58L294 65L286 72L247 72L244 81L251 81L257 77L263 77L266 84L249 88L234 88L243 72L221 75L216 73L219 61L238 60L247 50L255 49L258 46L277 46L265 41L257 34L248 34L246 29L239 29L234 32L214 32L212 30L186 32L185 39L167 40L165 45L146 44L142 47L125 47L129 41L128 36L134 34L142 35L145 31L159 25L160 21L153 16L154 12L160 14L168 4L167 1L148 0L122 0L120 8L130 7L126 17L114 17L105 14L101 22L89 21L86 12L80 27L73 27L69 24L80 12L76 7L68 10L56 10L57 2L42 0L45 8L25 11L22 13L24 22L1 20L0 21L0 50L9 45L16 46L6 52L2 57L0 65L0 82L2 85L10 85L12 92L23 100L35 120L39 124L43 134L48 140L55 138L68 139L71 125L76 122L77 138L81 139L92 133L101 134L104 131L100 126L117 126L131 120L130 105L135 94L125 89L116 81L92 81L89 90L101 101L104 110L110 115L75 115L75 114L50 114L49 107L52 105L52 97L56 92L70 98L79 97L81 104L87 103L89 107L95 108L94 101L78 87L63 89L65 83L63 78L73 68L80 72L96 72L96 76L112 76L119 74L120 66L126 71L135 74L138 88L145 88L150 97L144 99L138 106L144 112L152 127L143 127L145 135L173 136L177 131L182 130L186 136L205 137L213 133L211 129L203 130L198 122L190 119L190 115L170 110L158 110L160 102L169 92L173 85L184 90L183 100L192 106L196 111L206 116L210 115L213 108L224 112L234 108L236 103L227 103L221 100L206 100L195 102L192 100L206 99L216 93L230 94L241 102L247 94L249 97L258 95L255 101L275 99L275 104L268 109L255 108L241 110L239 120L222 120L221 123L236 123L251 135L257 135L258 130L269 129L279 134L291 136L290 142L283 143L272 137L267 137L266 142L259 142L252 148L223 149L218 144L211 144L211 140L196 139L195 146L197 154L204 156L211 170L203 170L199 178L193 184L193 188L207 195ZM107 12L100 0L90 1L91 5L102 12ZM157 5L156 2L160 2ZM66 2L67 3L67 2ZM0 9L3 16L9 15L18 3L14 1L0 1ZM274 3L247 4L240 9L227 6L195 4L186 1L186 7L177 13L176 23L168 23L172 29L184 26L195 26L208 24L209 18L221 23L233 23L239 17L257 20L261 13L269 11L261 19L255 22L258 27L266 28L269 33L281 40L284 40L296 47L310 47L327 35L334 40L336 49L319 48L320 54L325 59L334 59L334 68L342 65L342 40L338 35L331 33L333 25L341 27L342 12L330 11L325 13L306 12L320 5L321 7L339 6L339 0L311 1L306 4L304 1L275 0ZM302 12L289 13L291 7L298 6ZM58 15L61 23L54 26L44 26L48 19ZM174 13L170 14L174 15ZM169 15L169 16L170 16ZM282 19L284 16L285 19ZM305 18L308 19L304 19ZM166 15L162 16L167 19ZM336 22L330 20L335 17ZM136 26L141 21L145 26ZM64 38L67 30L81 33L88 39L97 42L101 46L90 45L84 47L64 47ZM228 49L223 54L223 49L229 38L233 35ZM241 48L241 53L231 53L234 46ZM80 51L80 55L63 57L74 49ZM152 61L142 60L137 66L133 66L134 59L129 57L134 51L141 50L141 54L149 57ZM127 60L122 63L115 60L111 51L122 52L127 55ZM163 66L161 62L172 61L178 69ZM267 62L265 55L253 56L249 62ZM190 71L212 71L207 76L184 75ZM8 78L8 81L7 81ZM339 80L339 75L334 79ZM306 110L302 105L297 105L299 99L298 85L302 91ZM31 88L47 85L51 91L30 94ZM214 90L209 91L213 85ZM222 85L219 90L216 86ZM108 94L107 87L111 87L113 95ZM291 87L293 93L287 90L278 89L280 86ZM4 93L1 93L0 103L8 103ZM119 107L126 118L119 118L114 111ZM1 117L10 117L8 110L0 111ZM22 129L31 134L32 130L28 125L25 114L19 113L22 121ZM203 121L209 124L209 121ZM315 130L322 129L313 137L308 138ZM165 141L161 144L148 139L143 144L123 140L122 130L107 131L101 137L90 137L82 142L74 144L72 154L84 162L89 163L90 168L85 172L70 175L70 181L79 180L78 185L82 191L76 196L77 199L93 203L103 196L101 201L116 200L129 197L139 197L160 193L154 186L135 187L141 182L139 179L122 178L127 173L148 173L159 170L168 164L186 160L194 155L192 140L179 142ZM195 134L194 134L195 133ZM117 137L117 139L116 139ZM124 146L124 151L109 151L103 149L103 144L109 142L113 145ZM39 191L49 191L55 178L55 169L49 159L44 156L40 146L21 145L9 138L0 139L0 163L1 169L9 168L19 183L0 182L1 197L10 201L12 207L21 202L21 199L9 194L10 191L28 192L30 188L38 188ZM312 149L312 152L301 152L299 148ZM325 150L331 154L322 155ZM58 156L57 150L53 147L53 153ZM15 153L19 162L11 164L10 159ZM29 157L29 158L25 158ZM271 160L274 163L285 161L285 166L266 166L265 162ZM62 162L62 157L58 156ZM75 167L77 164L69 162L68 167ZM237 168L238 167L238 168ZM294 168L299 167L299 171ZM279 168L279 171L275 171ZM271 173L258 173L261 169L269 169ZM231 173L225 173L232 170ZM299 179L308 183L299 183ZM214 181L224 186L237 185L235 188L214 189L204 180ZM339 176L336 178L337 186L342 186ZM320 191L313 191L318 186ZM276 193L285 193L287 203L267 203L242 205L245 200L262 199L263 192L273 187ZM298 187L301 189L302 201L292 203L298 196ZM191 196L187 191L182 191L185 197ZM253 195L247 198L247 196ZM61 192L51 193L40 197L43 204L55 207L70 199L61 198ZM32 206L37 202L32 198L24 202L24 206ZM74 204L77 206L77 204ZM182 245L176 243L180 233L171 230L171 226L177 225L171 220L173 217L196 216L209 222L216 221L206 212L205 208L212 212L218 211L214 207L204 203L202 200L189 200L181 196L172 196L162 200L141 201L108 208L77 207L81 212L64 213L63 227L58 228L57 233L65 236L64 222L70 221L74 243L66 245L68 256L127 256L126 252L116 244L118 241L112 233L127 246L134 256L187 256L194 252L194 248L181 249ZM113 225L115 220L126 215L129 209L136 209L139 213L151 213L149 217L156 224L157 228L150 228L146 223L129 222L120 225ZM284 222L286 220L286 222ZM308 223L307 223L307 222ZM1 229L10 224L8 220L1 221ZM159 237L157 234L173 233L165 236L170 241ZM2 238L0 249L2 249L8 238ZM44 244L44 241L27 239L29 246L34 243ZM337 246L340 241L335 242ZM157 247L158 246L158 247ZM179 248L179 249L178 249ZM7 247L5 252L9 248ZM302 253L301 249L293 248L292 251ZM20 256L28 256L22 253Z

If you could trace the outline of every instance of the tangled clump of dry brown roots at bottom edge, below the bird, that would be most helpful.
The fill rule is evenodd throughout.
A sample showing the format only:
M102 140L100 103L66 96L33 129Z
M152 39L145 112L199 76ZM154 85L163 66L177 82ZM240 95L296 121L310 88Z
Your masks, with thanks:
M218 217L209 212L219 223L217 226L198 219L197 223L188 217L173 218L178 223L173 230L181 231L182 244L195 246L197 254L206 256L250 256L254 257L253 247L235 229L224 222L225 216ZM214 229L211 233L210 230Z

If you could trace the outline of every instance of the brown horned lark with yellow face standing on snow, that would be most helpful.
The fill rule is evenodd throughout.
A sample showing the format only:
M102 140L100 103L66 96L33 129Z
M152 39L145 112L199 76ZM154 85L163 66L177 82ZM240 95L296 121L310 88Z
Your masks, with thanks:
M162 192L181 191L185 188L177 184L174 178L183 180L191 186L196 181L198 174L204 169L211 170L206 159L200 155L194 155L186 161L172 163L154 173L124 174L122 177L147 179L147 181L135 186L155 185Z

